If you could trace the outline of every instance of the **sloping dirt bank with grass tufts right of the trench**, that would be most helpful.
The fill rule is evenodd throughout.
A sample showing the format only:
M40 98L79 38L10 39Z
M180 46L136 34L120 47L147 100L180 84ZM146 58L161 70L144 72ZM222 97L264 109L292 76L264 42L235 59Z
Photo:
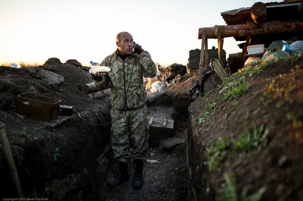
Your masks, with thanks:
M229 200L244 187L248 195L264 190L260 200L303 199L302 69L303 57L269 63L245 79L244 95L218 99L224 83L190 105L188 200Z

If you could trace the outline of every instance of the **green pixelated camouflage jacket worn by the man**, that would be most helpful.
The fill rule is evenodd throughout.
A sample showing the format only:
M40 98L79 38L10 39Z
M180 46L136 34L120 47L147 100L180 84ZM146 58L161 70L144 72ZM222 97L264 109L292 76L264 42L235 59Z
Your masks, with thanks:
M117 110L125 108L128 110L139 108L145 104L146 92L143 86L143 76L153 78L157 75L156 65L147 51L139 54L137 59L136 54L132 54L126 57L125 61L114 52L107 56L101 65L109 67L111 71L103 74L101 80L95 80L95 85L104 88L111 82L109 99L113 107ZM131 75L132 80L129 83Z

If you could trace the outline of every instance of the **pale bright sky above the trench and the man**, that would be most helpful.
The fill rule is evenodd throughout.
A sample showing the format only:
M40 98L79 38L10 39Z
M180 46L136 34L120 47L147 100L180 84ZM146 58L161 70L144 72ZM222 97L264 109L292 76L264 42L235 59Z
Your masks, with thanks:
M258 0L260 1L260 0ZM0 64L43 64L57 57L61 62L102 60L117 49L121 31L163 66L186 65L189 51L201 49L198 29L226 25L221 12L251 7L249 0L0 0ZM261 2L268 2L263 1ZM228 54L241 52L234 38L225 38ZM218 47L208 39L208 48Z

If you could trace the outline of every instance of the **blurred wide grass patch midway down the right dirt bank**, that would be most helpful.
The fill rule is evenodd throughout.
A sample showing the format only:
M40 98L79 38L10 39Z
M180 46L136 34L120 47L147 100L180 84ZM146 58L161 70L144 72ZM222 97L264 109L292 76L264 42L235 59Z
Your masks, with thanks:
M230 133L225 139L219 137L208 145L209 147L205 153L208 156L208 161L205 164L208 165L209 171L216 171L220 168L222 161L226 158L228 149L232 150L232 153L235 153L237 150L251 153L260 145L263 147L267 146L269 129L264 129L263 125L257 128L255 123L252 124L252 132L245 126L244 135L239 136L237 140L233 139L233 135Z

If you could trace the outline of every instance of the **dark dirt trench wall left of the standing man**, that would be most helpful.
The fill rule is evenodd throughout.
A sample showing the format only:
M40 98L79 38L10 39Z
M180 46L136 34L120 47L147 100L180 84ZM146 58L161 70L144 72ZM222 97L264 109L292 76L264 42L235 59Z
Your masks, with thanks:
M39 78L41 69L57 73L65 81L50 85ZM67 64L22 69L1 66L0 72L0 121L6 124L25 197L93 200L100 196L102 180L113 162L109 148L111 125L86 125L74 116L50 129L43 121L15 114L17 95L31 92L59 98L62 105L74 106L87 123L110 122L109 99L93 100L80 91L82 84L92 81L88 72ZM57 162L55 148L59 150ZM16 193L1 149L0 180L6 184L0 196L14 197Z

